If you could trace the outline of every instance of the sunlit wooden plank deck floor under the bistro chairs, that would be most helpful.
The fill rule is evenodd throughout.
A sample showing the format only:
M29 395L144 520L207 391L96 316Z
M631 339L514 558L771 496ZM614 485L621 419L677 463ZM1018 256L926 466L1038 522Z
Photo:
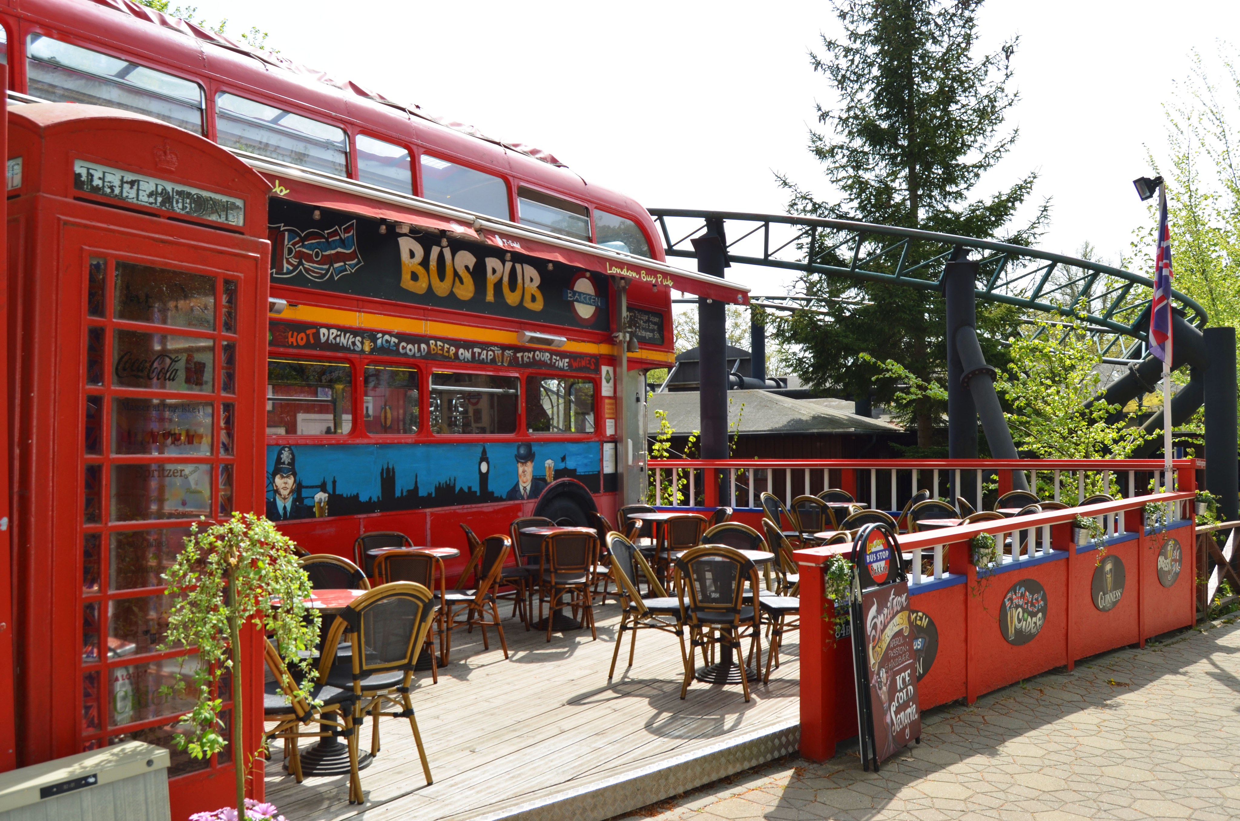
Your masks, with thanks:
M458 630L451 663L418 675L413 704L434 784L427 785L404 719L381 722L382 749L362 770L365 805L350 805L347 776L284 774L275 750L267 765L267 800L298 821L448 819L481 812L501 801L600 776L609 770L714 744L729 733L797 716L797 634L790 632L782 665L769 686L751 685L745 703L739 685L694 682L680 698L681 666L676 637L655 631L637 636L627 671L627 641L616 677L608 683L619 606L595 609L598 641L588 630L546 635L505 620L510 659L491 632L484 651L477 631ZM764 646L765 652L765 646ZM362 733L368 749L371 724ZM306 740L303 749L314 742ZM279 748L279 745L275 745Z

